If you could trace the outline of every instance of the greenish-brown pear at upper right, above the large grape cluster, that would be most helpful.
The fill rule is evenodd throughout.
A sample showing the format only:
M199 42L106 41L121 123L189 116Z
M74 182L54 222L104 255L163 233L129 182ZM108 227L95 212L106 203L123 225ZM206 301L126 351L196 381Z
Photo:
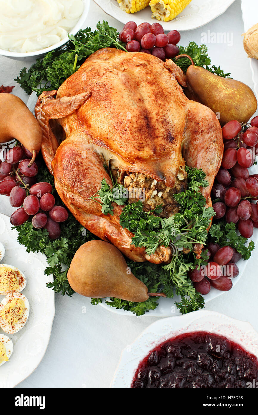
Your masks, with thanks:
M256 97L243 82L222 78L195 65L188 67L186 77L195 100L215 112L221 125L231 120L247 122L256 112Z

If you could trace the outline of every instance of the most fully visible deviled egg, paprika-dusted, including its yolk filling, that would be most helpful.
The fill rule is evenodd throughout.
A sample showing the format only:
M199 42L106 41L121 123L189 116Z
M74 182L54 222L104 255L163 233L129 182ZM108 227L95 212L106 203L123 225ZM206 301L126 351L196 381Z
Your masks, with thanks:
M21 293L9 293L0 303L0 327L5 333L17 333L29 317L29 301Z

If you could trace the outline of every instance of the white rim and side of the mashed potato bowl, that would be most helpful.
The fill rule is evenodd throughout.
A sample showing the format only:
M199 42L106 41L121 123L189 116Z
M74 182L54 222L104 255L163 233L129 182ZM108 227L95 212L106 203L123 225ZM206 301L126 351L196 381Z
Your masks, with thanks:
M78 22L75 24L75 27L71 29L69 34L76 34L79 32L80 29L84 28L84 22L86 20L86 17L89 12L89 0L82 0L84 3L84 10L82 12L82 15ZM10 52L6 51L4 49L0 49L0 55L7 56L7 58L16 59L18 61L34 61L37 58L42 58L47 52L52 51L53 49L57 49L66 42L68 42L69 37L66 36L64 39L60 40L58 43L55 43L52 46L49 46L48 48L41 49L39 51L34 52Z

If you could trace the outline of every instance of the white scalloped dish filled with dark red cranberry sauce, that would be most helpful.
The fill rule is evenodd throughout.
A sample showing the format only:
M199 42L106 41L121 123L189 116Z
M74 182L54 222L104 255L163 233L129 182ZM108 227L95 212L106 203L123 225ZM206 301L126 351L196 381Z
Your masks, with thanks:
M121 358L111 388L257 388L258 332L199 310L149 325Z

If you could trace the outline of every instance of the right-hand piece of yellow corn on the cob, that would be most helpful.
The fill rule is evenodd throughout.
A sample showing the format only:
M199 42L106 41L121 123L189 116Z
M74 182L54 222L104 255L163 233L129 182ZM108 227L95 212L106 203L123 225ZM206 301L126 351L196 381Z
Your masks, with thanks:
M168 22L173 20L190 3L191 0L151 0L152 19Z

